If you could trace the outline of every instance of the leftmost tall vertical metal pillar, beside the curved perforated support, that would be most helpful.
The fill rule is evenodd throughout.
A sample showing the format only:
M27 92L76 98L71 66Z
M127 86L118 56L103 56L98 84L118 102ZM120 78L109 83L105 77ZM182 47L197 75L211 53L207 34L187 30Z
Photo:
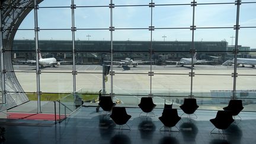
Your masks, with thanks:
M37 0L34 0L34 31L36 43L36 78L37 78L37 113L41 113L41 91L40 91L40 70L39 70L39 37L38 37L38 19L37 19Z

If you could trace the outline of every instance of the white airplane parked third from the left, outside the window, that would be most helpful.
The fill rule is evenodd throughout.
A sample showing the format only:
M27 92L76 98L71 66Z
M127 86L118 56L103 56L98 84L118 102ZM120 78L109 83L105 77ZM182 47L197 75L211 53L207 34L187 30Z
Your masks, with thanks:
M197 60L196 59L197 53L195 53L193 57L193 66L196 63L208 63L208 62L213 62L213 61L207 61L207 60ZM181 58L180 61L170 61L170 60L165 60L165 62L172 62L176 63L176 66L184 66L184 65L191 65L192 59L191 58Z

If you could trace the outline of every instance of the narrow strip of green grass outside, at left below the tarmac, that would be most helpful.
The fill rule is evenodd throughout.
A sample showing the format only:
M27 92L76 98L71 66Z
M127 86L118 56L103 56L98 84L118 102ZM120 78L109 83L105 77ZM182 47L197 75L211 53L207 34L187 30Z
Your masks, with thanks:
M57 101L57 100L60 100L62 99L63 97L66 97L67 95L69 94L47 94L47 93L44 93L44 94L41 94L41 101ZM82 100L84 101L92 101L92 100L95 100L98 98L98 94L78 94L79 97L82 98ZM30 101L37 101L37 94L36 93L33 93L33 94L27 94L28 96L28 100ZM73 95L69 95L68 97L66 97L66 99L70 99L70 100L73 100Z

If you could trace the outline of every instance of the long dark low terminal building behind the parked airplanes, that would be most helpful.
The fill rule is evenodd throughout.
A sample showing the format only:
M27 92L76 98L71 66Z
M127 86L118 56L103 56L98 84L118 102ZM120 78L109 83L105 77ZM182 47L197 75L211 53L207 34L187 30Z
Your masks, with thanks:
M12 61L36 59L34 55L34 40L14 40L12 47ZM68 40L40 40L39 47L44 57L56 57L58 60L72 60L72 41ZM76 63L78 64L101 64L102 60L110 59L111 41L76 40ZM120 60L126 57L132 59L148 60L149 53L152 59L158 64L160 56L165 60L180 60L183 57L191 57L191 41L114 41L114 59ZM210 56L221 57L221 62L227 59L228 47L226 41L194 41L194 47L199 53L197 59L212 60ZM241 47L241 46L240 46ZM239 47L239 49L240 49ZM244 49L241 49L244 51ZM244 55L248 55L247 47ZM94 54L97 54L95 56ZM105 57L104 57L105 56Z

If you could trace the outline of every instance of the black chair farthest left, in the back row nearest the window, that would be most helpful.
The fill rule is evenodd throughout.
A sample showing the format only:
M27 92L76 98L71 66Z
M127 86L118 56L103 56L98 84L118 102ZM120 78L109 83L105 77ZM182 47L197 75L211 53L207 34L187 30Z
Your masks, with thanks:
M113 103L112 98L110 96L101 96L100 103L98 103L100 107L107 112L110 112L112 108L116 105Z

